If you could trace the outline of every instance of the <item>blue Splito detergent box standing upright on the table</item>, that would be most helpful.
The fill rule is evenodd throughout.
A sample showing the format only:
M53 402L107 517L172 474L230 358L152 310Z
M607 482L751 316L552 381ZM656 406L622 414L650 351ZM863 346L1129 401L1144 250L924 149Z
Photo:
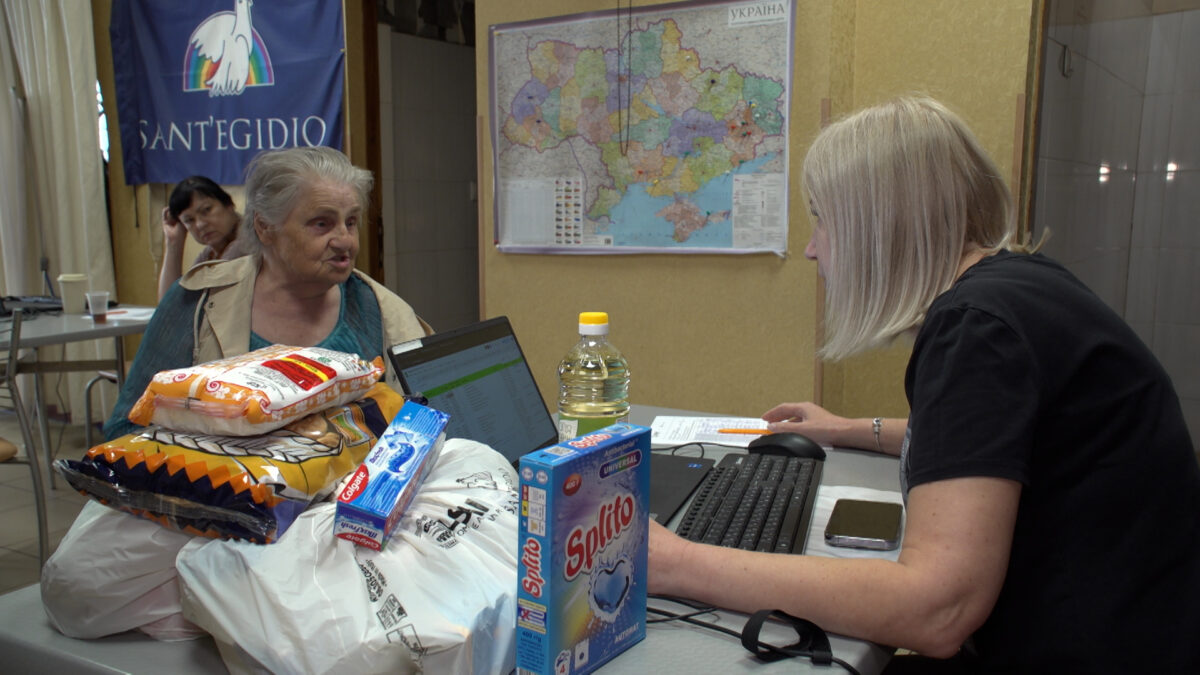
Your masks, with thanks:
M646 637L650 430L521 458L517 673L590 673Z

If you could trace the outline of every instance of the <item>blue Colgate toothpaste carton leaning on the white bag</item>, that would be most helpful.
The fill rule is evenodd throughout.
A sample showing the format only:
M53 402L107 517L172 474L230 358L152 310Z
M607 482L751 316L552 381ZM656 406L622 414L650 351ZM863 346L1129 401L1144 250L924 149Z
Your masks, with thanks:
M334 534L383 550L437 461L450 416L406 401L337 496Z

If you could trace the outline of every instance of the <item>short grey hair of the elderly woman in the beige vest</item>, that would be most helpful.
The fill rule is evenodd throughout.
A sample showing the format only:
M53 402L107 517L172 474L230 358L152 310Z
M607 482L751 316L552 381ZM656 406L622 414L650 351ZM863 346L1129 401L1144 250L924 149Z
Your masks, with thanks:
M265 150L246 167L246 209L238 239L251 252L259 252L263 243L254 221L260 219L269 228L280 227L304 190L318 180L349 185L359 197L359 205L367 210L374 179L342 153L323 145Z

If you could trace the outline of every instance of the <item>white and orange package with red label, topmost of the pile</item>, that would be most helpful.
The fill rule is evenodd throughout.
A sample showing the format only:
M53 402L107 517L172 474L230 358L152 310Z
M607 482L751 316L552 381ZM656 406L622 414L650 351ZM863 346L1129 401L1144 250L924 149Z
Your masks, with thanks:
M130 420L175 431L254 436L365 394L383 360L319 347L272 345L236 357L164 370L130 410Z

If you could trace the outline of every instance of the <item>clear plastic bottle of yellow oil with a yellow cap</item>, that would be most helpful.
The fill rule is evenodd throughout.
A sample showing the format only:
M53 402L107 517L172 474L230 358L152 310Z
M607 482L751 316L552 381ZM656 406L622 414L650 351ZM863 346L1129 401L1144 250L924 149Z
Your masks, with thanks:
M580 341L558 364L558 437L629 420L629 364L608 342L606 312L580 313Z

